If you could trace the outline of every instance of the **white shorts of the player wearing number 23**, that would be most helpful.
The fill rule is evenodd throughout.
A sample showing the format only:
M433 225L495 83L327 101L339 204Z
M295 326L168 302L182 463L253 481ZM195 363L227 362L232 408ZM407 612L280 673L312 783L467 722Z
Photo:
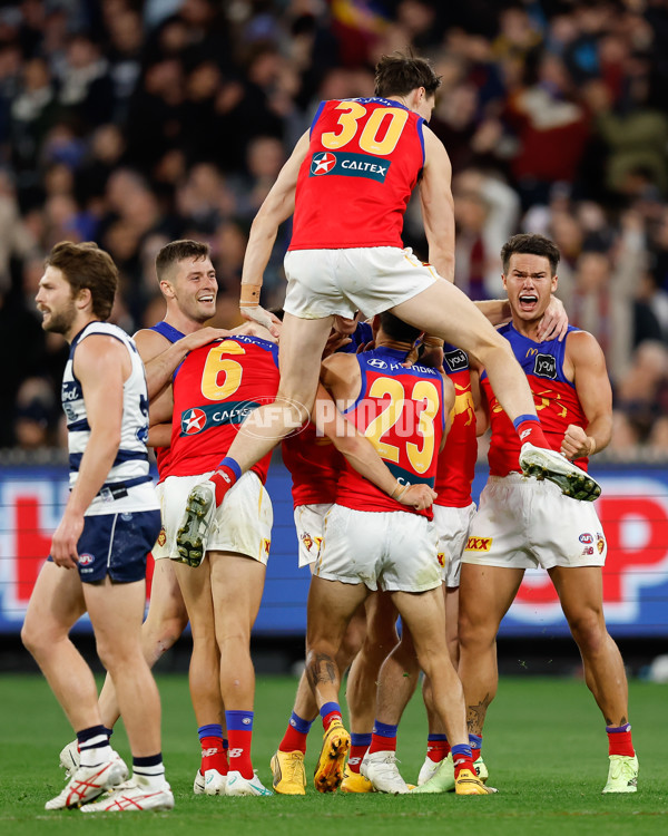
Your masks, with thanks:
M333 505L313 574L374 591L426 592L441 585L436 528L405 511Z

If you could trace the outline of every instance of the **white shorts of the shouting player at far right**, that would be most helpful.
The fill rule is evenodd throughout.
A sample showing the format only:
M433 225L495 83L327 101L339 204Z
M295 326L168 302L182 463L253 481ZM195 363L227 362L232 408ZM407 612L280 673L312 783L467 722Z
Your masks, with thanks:
M463 563L504 568L602 566L608 546L591 503L551 482L490 476L471 523Z

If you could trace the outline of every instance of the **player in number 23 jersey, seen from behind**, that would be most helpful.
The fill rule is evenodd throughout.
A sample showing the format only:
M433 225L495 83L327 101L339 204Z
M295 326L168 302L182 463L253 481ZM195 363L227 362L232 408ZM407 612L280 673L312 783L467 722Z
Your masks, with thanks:
M453 389L434 369L404 366L419 336L415 329L389 313L374 319L376 329L373 351L325 360L323 382L403 484L433 485ZM342 780L342 752L350 746L337 702L336 653L355 609L370 590L381 587L412 630L421 664L432 677L436 710L461 759L458 791L487 793L473 774L461 684L440 640L445 630L440 586L431 512L402 509L346 465L336 504L325 519L307 613L306 667L325 728L323 755L330 757L332 788ZM375 767L392 759L392 747L383 738L379 760L377 736L374 741L365 758L370 779Z

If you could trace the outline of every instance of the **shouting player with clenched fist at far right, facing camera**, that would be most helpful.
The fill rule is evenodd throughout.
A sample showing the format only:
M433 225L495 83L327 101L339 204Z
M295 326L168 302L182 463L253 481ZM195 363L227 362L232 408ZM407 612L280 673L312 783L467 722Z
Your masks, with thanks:
M554 449L582 467L606 447L611 391L603 353L590 333L537 342L547 299L557 288L559 250L542 235L515 235L501 251L512 321L501 333L522 364ZM520 472L512 425L481 377L492 428L490 478L471 525L460 587L460 675L468 725L480 749L498 687L495 636L524 571L542 566L554 584L582 657L584 679L607 725L610 769L603 793L635 793L638 760L628 722L623 662L606 629L601 567L607 544L592 505L566 500L552 483Z

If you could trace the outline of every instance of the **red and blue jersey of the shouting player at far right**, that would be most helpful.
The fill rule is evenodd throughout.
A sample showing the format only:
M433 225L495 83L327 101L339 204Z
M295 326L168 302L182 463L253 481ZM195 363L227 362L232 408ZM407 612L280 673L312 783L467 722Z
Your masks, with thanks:
M569 325L568 333L577 330ZM582 428L587 428L588 424L576 387L563 373L566 339L563 342L557 339L534 342L519 333L512 322L500 328L499 333L510 342L518 362L527 375L540 426L550 447L553 450L561 449L561 441L569 424ZM480 383L490 408L490 474L505 476L511 472L520 472L519 456L522 443L512 421L494 397L487 372L482 373ZM577 459L576 464L586 470L588 459Z

